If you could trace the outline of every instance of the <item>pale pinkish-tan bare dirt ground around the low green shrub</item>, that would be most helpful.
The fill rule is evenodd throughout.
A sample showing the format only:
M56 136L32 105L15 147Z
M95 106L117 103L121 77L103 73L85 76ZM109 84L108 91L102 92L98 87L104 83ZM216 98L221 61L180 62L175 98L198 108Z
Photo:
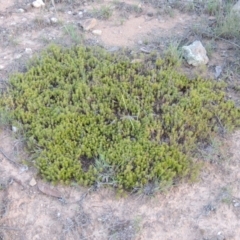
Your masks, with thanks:
M51 42L162 52L169 39L196 40L189 29L201 25L196 14L172 9L166 14L135 0L115 5L110 1L71 2L55 1L53 7L47 1L44 9L37 9L27 0L0 0L0 83L10 73L24 70L26 61ZM109 11L112 16L105 20ZM94 29L102 34L84 32L78 23L99 12ZM58 22L51 22L52 17ZM214 76L214 66L227 65L232 57L226 42L214 43L208 67L198 74ZM194 71L186 69L190 74ZM21 139L1 129L0 239L240 239L240 131L212 140L199 159L204 167L198 182L169 186L151 197L118 197L110 189L74 184L51 186L26 165L27 154L22 149Z

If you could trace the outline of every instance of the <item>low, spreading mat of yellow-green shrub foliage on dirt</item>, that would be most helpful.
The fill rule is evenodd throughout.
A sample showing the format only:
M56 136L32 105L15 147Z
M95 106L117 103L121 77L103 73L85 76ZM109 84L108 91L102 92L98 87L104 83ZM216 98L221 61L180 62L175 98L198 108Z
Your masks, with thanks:
M11 77L1 106L22 125L45 179L133 189L190 174L199 141L240 125L224 88L161 59L131 63L100 48L52 46Z

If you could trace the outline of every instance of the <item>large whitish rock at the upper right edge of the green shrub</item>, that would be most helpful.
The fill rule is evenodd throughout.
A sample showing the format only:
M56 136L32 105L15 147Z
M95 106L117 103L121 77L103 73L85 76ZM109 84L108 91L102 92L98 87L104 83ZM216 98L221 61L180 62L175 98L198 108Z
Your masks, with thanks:
M183 57L187 60L188 64L193 66L205 65L209 59L206 49L200 41L195 41L189 46L183 46Z

